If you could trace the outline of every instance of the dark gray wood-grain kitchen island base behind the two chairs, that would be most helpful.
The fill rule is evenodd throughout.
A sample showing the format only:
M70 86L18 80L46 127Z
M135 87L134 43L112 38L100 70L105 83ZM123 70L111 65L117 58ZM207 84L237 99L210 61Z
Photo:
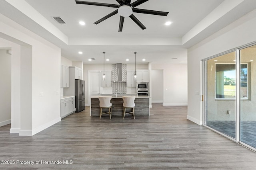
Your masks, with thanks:
M90 97L90 99L91 99L91 116L100 117L100 101L98 99L98 96L92 96ZM112 116L122 116L124 112L122 96L112 97L110 102L112 103ZM150 115L148 96L136 96L134 103L135 103L135 108L134 108L135 119L136 119L136 115L137 116Z

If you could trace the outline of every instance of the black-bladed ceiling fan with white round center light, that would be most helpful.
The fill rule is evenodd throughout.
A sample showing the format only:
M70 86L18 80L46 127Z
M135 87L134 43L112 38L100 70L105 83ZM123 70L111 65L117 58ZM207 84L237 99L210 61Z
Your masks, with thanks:
M76 4L85 4L85 5L95 5L95 6L108 6L112 8L118 8L117 10L111 12L110 14L104 16L100 20L94 22L95 24L98 24L111 16L114 16L116 14L120 15L120 21L119 21L119 29L118 31L122 31L123 24L124 24L124 17L130 17L137 25L141 27L141 29L145 29L146 27L132 14L133 12L136 13L142 13L142 14L152 14L152 15L158 15L158 16L167 16L169 12L162 12L162 11L153 11L153 10L144 10L135 8L136 6L139 6L140 4L143 4L144 2L147 2L148 0L136 0L135 2L131 3L131 0L116 0L116 2L119 3L119 5L116 4L105 4L105 3L99 3L99 2L86 2L86 1L80 1L75 0Z

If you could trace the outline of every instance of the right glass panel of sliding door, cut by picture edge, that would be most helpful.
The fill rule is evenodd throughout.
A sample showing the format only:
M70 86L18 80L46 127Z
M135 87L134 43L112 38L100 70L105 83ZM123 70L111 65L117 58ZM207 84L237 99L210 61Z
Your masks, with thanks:
M240 50L240 141L256 148L256 45Z

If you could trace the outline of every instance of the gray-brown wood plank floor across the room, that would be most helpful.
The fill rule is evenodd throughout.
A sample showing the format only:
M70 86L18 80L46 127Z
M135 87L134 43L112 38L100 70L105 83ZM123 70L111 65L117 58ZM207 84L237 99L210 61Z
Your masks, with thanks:
M0 127L0 160L40 164L1 164L0 169L84 170L255 170L256 153L186 119L186 106L153 104L150 117L90 117L74 113L32 136ZM72 164L63 164L63 161ZM61 161L62 164L41 164ZM69 162L70 163L70 162Z

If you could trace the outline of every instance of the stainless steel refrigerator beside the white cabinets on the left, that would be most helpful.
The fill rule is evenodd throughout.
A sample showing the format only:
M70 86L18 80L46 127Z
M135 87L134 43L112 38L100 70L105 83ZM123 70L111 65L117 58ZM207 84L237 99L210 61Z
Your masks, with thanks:
M84 80L75 80L76 112L85 109Z

